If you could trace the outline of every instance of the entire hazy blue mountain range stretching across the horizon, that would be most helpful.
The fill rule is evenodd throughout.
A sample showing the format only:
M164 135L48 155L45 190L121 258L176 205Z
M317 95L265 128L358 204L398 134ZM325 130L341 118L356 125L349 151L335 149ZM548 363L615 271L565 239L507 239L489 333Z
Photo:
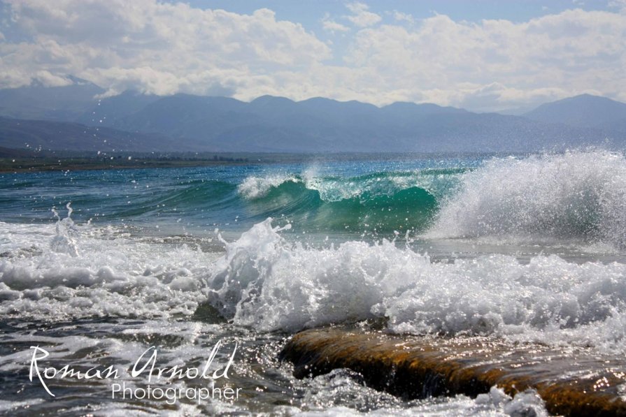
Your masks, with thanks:
M103 152L530 152L626 145L626 104L581 96L522 116L434 104L127 91L97 85L0 89L0 147Z

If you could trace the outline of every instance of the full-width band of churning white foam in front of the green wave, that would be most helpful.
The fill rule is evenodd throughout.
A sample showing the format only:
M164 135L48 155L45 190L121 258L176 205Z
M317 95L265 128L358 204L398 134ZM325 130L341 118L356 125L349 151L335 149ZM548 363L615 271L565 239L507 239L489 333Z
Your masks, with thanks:
M0 314L170 317L208 300L259 331L389 318L395 332L486 334L626 353L626 265L528 263L492 254L453 263L393 242L305 248L271 219L226 254L76 226L78 255L53 251L54 225L1 224Z

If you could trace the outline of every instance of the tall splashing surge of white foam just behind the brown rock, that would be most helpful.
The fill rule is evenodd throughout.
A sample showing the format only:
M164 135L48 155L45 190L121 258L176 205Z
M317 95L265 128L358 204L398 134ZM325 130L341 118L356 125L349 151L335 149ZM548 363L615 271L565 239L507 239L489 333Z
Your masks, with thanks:
M396 332L499 335L626 352L626 265L490 255L435 263L392 242L305 249L268 219L227 244L209 300L239 325L297 330L387 316Z

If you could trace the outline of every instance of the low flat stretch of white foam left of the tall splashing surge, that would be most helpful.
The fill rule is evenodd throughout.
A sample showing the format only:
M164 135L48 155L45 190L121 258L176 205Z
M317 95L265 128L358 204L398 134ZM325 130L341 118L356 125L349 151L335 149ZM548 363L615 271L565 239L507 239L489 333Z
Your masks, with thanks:
M61 224L59 226L59 224ZM43 320L193 314L217 254L111 237L110 228L0 223L0 314Z

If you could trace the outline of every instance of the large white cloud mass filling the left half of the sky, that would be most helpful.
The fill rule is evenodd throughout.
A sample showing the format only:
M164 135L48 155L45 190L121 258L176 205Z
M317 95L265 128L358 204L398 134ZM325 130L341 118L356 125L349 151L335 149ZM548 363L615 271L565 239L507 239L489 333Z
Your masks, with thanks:
M236 88L245 78L298 71L331 57L325 43L300 24L277 21L268 9L239 15L154 0L9 3L14 25L31 41L0 45L2 87L49 71L90 78L112 92L132 85L155 94L206 94L216 85Z

